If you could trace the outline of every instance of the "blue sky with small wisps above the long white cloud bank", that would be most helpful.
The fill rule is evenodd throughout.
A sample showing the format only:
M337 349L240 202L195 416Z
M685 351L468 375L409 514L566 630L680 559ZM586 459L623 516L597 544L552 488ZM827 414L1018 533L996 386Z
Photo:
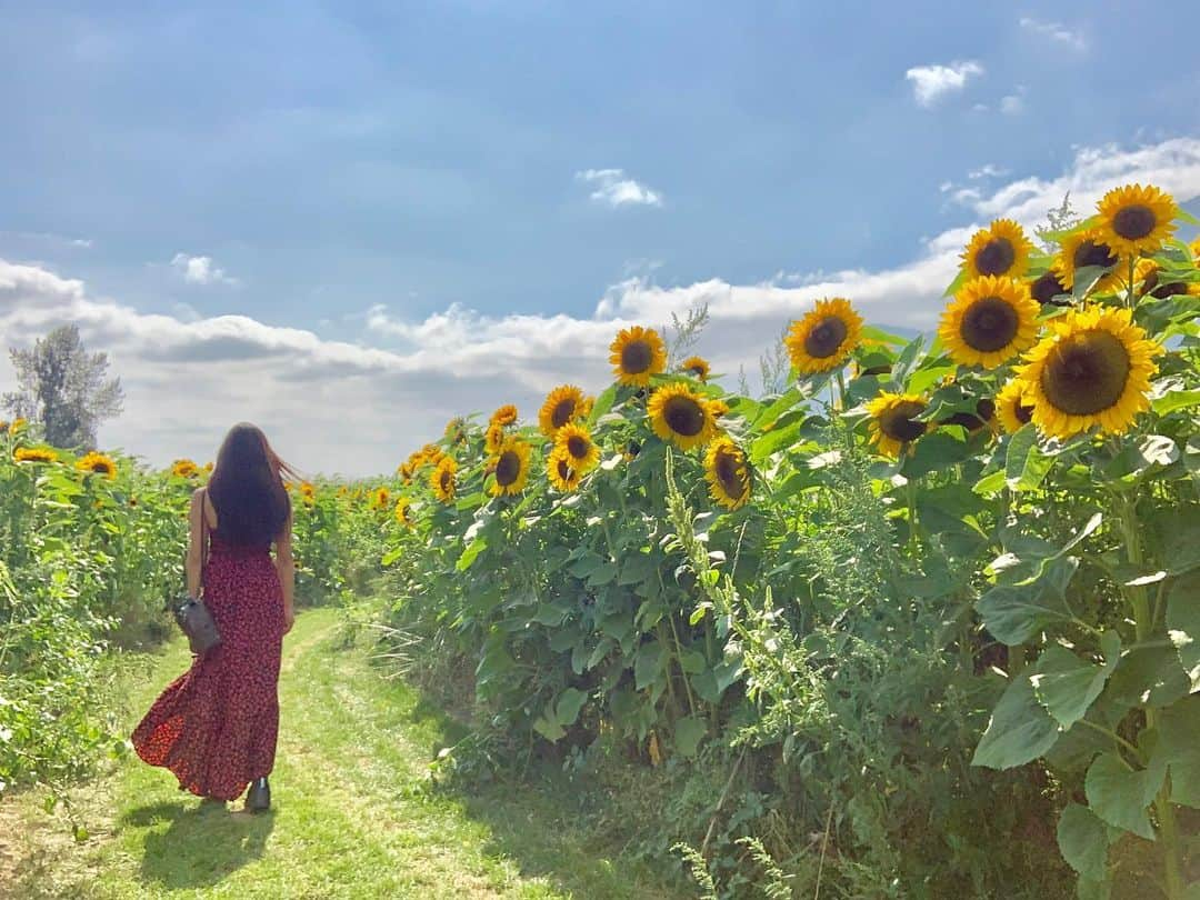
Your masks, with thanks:
M461 337L589 320L631 284L902 270L1013 211L1006 186L1044 209L1109 156L1195 209L1195 148L1170 143L1200 137L1194 2L250 6L0 2L0 260L145 322L400 354L415 379L448 316ZM874 319L928 324L908 306Z

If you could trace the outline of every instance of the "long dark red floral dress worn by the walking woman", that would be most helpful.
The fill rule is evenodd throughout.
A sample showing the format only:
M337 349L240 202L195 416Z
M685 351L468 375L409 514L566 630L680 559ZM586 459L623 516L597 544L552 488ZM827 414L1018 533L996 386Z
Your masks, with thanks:
M180 788L233 800L275 764L284 623L270 548L234 546L214 532L204 602L221 643L155 701L133 746L145 762L170 769Z

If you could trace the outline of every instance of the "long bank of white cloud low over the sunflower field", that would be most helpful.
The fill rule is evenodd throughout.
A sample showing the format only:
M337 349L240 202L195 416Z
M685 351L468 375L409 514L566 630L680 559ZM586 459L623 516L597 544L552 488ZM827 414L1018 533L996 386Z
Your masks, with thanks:
M452 415L515 402L530 418L557 384L602 389L618 329L660 325L697 301L708 301L710 314L698 350L715 371L731 374L740 365L757 371L758 354L821 296L850 298L872 324L929 330L977 227L1001 216L1037 227L1067 191L1086 210L1108 188L1130 181L1158 185L1180 203L1200 198L1200 139L1082 149L1057 178L959 188L971 192L958 202L973 221L914 246L907 263L877 271L680 287L658 286L642 274L612 286L589 317L496 317L451 305L412 320L377 306L362 317L368 346L245 316L144 313L95 296L82 281L0 260L0 334L7 344L28 346L55 325L76 323L90 348L108 352L126 388L125 414L101 439L156 464L179 455L211 458L223 430L247 419L308 472L390 472ZM4 356L0 392L11 384Z

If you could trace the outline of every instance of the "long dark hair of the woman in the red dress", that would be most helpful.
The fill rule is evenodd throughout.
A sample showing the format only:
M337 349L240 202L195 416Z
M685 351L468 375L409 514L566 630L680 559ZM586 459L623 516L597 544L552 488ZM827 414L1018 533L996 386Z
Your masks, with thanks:
M278 539L292 512L284 475L299 480L258 426L238 422L229 428L209 479L217 533L224 541L262 546Z

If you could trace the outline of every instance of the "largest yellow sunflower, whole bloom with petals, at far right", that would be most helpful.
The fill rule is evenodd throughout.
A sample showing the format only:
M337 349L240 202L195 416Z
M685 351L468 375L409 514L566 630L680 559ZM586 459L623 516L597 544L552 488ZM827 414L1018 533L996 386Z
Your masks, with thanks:
M1069 438L1098 425L1121 434L1150 407L1146 392L1163 352L1133 324L1130 310L1093 307L1050 323L1051 334L1026 354L1018 370L1033 422L1044 433Z

